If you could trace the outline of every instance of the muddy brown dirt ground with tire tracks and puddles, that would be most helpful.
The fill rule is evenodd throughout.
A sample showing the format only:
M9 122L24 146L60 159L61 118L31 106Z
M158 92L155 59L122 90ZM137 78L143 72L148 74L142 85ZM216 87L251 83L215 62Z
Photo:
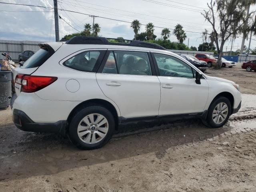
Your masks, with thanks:
M255 192L256 72L208 72L251 93L218 129L200 120L128 126L82 151L57 134L18 130L0 110L0 192Z

